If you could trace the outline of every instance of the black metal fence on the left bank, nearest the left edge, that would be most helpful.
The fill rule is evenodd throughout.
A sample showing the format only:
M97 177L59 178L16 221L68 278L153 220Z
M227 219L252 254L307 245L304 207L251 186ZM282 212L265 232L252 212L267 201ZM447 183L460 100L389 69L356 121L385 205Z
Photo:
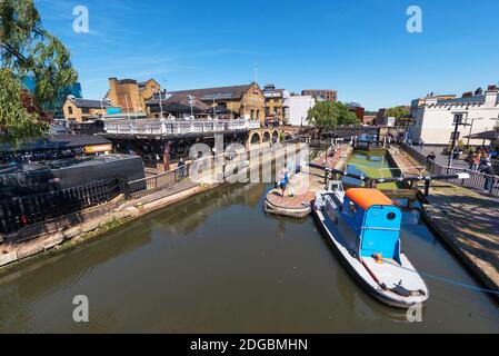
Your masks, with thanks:
M121 192L119 179L84 186L2 199L0 233L13 233L23 226L47 221L63 215L104 204Z

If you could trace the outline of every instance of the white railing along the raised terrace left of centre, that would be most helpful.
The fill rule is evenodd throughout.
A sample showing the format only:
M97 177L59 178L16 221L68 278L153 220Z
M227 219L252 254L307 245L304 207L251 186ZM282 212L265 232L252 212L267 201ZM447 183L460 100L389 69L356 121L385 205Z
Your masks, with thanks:
M220 132L259 129L260 121L237 120L107 120L104 130L108 134L121 135L187 135L201 132Z

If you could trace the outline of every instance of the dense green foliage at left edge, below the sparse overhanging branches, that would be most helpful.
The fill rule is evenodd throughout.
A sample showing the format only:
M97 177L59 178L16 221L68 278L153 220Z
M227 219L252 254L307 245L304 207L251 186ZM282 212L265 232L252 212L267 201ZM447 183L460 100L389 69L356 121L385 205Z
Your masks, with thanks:
M18 145L42 136L48 122L10 69L0 69L0 141Z

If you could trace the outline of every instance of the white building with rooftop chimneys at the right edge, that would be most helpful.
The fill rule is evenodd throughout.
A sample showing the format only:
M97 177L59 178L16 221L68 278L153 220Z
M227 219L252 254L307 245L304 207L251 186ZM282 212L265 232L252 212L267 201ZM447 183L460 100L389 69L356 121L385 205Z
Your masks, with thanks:
M452 141L456 119L461 121L458 139L465 144L466 136L493 130L498 126L498 90L490 87L482 95L463 98L427 97L412 101L415 123L408 128L408 139L428 145L448 145ZM471 140L470 145L482 145Z

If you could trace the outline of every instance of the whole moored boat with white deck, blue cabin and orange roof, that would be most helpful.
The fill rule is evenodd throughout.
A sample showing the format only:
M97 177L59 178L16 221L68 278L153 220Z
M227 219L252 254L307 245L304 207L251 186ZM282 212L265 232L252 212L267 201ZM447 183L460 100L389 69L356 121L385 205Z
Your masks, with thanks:
M402 211L378 189L343 190L331 181L313 215L342 265L376 299L396 308L423 304L429 291L400 246Z

